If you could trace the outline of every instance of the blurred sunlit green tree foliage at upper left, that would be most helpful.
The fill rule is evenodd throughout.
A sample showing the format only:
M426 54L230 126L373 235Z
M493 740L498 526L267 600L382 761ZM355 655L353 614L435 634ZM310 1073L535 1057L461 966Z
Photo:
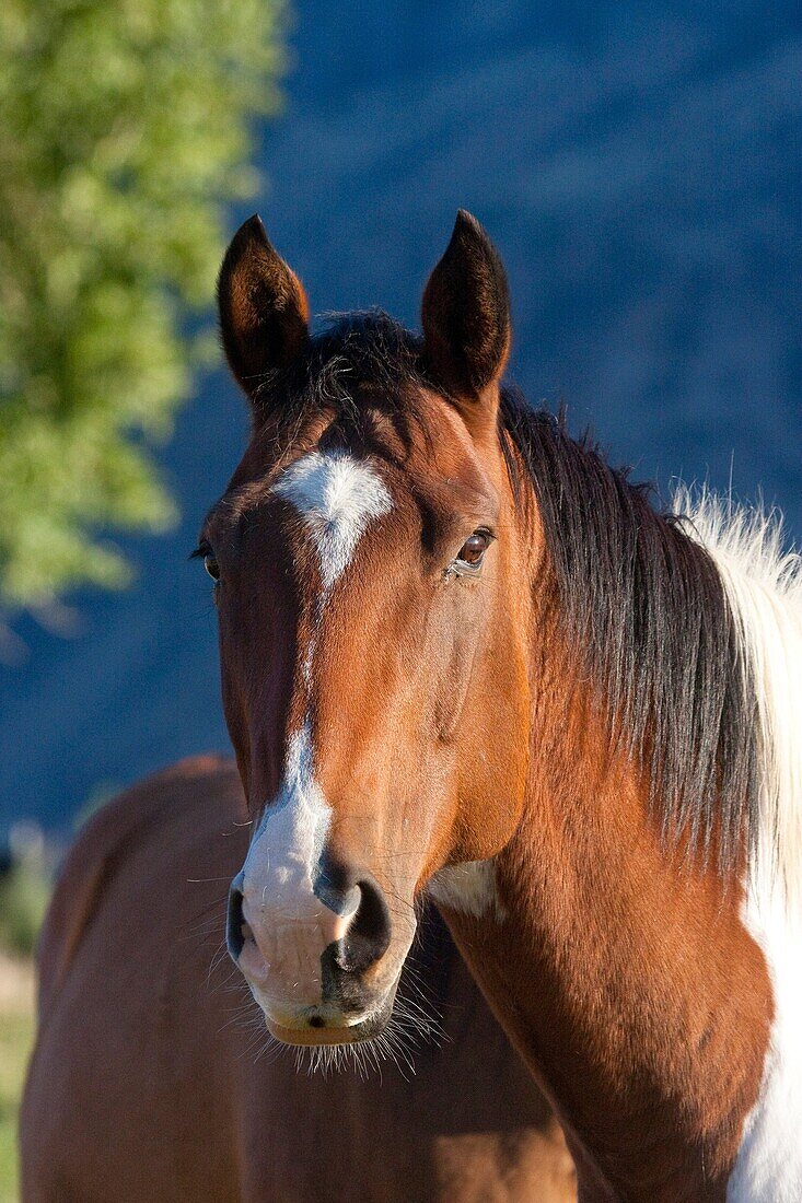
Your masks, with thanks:
M173 518L149 448L258 184L279 31L279 0L0 5L0 608L124 582L104 532Z

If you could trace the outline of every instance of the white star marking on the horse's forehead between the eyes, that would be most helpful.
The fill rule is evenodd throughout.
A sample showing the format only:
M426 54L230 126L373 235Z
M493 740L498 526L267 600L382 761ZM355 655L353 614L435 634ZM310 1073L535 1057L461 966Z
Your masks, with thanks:
M309 451L287 469L273 492L303 516L325 592L350 563L368 522L393 509L378 473L347 451Z

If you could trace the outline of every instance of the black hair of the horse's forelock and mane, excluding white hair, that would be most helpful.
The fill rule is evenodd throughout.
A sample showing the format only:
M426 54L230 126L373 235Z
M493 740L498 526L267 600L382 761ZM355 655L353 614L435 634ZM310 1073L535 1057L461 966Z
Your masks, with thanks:
M335 318L294 379L270 379L287 398L288 434L331 408L359 427L358 387L372 386L401 427L426 431L415 385L431 385L421 339L381 310ZM275 392L273 392L275 396ZM596 682L611 737L648 770L664 831L686 831L731 867L757 817L755 691L724 586L682 516L651 504L649 486L612 468L562 417L505 389L500 438L526 468L550 552L568 638Z

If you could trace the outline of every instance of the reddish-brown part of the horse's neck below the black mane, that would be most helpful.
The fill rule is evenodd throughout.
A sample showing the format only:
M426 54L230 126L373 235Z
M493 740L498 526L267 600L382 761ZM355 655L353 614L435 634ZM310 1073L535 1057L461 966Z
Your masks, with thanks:
M642 774L611 757L588 687L566 689L547 611L524 816L495 861L499 908L449 921L555 1102L585 1197L723 1199L760 1090L765 961L739 888L666 849Z

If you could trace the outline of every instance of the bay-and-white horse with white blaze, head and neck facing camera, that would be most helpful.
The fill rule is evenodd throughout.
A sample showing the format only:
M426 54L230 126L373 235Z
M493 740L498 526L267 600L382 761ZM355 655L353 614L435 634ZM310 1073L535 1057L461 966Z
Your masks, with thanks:
M423 334L218 286L252 438L197 555L253 818L228 946L295 1045L381 1037L432 896L586 1201L802 1199L802 574L502 385L460 212Z

